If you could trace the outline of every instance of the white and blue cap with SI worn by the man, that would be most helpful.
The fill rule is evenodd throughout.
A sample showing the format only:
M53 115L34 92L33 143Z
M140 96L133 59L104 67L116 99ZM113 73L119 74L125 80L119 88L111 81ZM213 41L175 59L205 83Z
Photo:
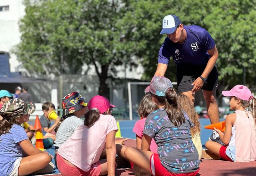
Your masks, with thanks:
M179 17L175 15L167 15L163 19L163 29L160 34L172 34L177 26L181 24Z

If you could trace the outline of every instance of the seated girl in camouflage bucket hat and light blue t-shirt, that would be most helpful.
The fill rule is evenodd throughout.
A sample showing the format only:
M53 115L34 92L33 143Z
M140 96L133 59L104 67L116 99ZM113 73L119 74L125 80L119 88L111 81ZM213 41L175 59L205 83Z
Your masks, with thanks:
M20 125L29 120L35 111L34 104L26 104L15 98L4 103L0 109L0 173L1 175L28 175L45 168L52 160L44 151L36 149ZM51 172L54 169L51 163ZM44 174L44 173L42 173Z

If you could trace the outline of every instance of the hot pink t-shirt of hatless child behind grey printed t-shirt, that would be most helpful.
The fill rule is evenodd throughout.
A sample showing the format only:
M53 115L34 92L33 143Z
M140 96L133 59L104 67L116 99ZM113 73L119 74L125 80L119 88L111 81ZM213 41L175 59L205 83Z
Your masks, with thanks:
M133 130L132 130L140 138L142 138L142 136L143 136L143 129L144 129L145 121L146 121L146 118L138 120L135 123ZM156 145L154 139L152 139L152 141L151 141L150 150L151 150L151 152L157 153L157 145Z

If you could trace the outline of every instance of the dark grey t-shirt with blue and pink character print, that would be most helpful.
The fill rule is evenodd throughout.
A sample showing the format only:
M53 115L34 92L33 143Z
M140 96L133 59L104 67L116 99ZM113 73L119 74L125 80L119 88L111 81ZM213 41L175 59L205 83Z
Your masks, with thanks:
M194 124L185 111L185 123L176 127L166 110L158 109L149 114L143 134L154 138L161 164L171 173L190 173L199 168L198 152L193 144L190 127Z

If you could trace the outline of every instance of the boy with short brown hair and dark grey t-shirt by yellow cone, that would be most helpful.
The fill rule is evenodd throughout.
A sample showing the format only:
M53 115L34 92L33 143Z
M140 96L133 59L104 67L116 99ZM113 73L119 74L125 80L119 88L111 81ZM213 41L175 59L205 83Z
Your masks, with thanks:
M51 119L49 118L49 114L52 111L55 111L55 106L54 104L50 102L46 102L42 105L42 109L44 114L40 117L40 123L42 125L42 133L44 135L44 138L52 138L54 141L56 139L56 136L54 134L51 134L54 132L54 128L58 125L60 118L57 118L54 122L54 124L51 126Z

